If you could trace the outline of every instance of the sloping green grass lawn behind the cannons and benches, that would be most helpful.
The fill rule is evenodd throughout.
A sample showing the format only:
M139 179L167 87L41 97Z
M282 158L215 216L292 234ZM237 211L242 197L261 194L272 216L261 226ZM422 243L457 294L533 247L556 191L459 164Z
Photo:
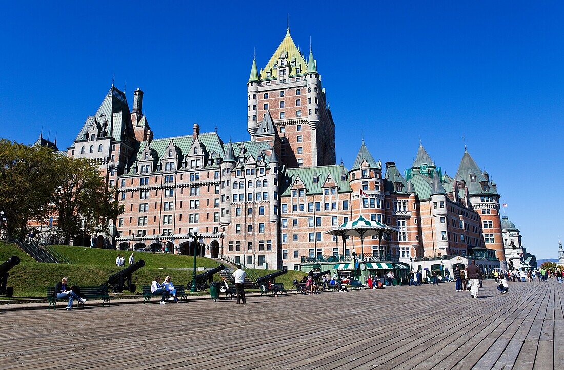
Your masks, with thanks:
M38 263L22 252L15 244L0 242L0 263L11 256L21 259L19 265L10 270L8 287L14 287L14 298L45 298L46 288L54 287L61 277L67 276L71 285L97 286L105 283L109 275L121 270L115 266L116 257L123 253L126 265L131 252L119 250L85 248L82 246L57 245L54 248L73 262L72 265L55 263ZM170 276L175 285L186 285L192 280L192 270L174 270L173 268L191 268L193 257L177 256L174 254L155 254L135 252L135 261L143 259L145 267L133 273L133 283L137 285L137 292L141 292L142 285L150 285L156 276L163 279ZM198 267L215 267L218 262L205 257L197 257ZM276 270L249 269L254 277L264 276ZM300 280L305 273L301 271L288 271L276 277L276 283L283 283L287 289L292 288L292 280ZM214 275L214 280L219 281L219 274ZM127 294L128 292L124 292ZM0 301L5 299L0 297Z

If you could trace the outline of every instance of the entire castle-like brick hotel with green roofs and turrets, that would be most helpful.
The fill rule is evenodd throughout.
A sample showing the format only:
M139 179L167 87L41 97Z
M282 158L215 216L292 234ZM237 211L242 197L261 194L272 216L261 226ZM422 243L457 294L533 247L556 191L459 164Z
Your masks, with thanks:
M143 91L134 91L130 109L112 85L64 153L99 164L108 186L117 187L123 212L108 235L115 248L165 247L253 268L299 268L353 251L406 264L478 252L505 261L500 194L468 151L453 177L421 143L403 171L382 165L360 139L350 168L336 162L336 124L320 69L311 47L301 51L289 29L262 69L253 59L246 87L249 140L226 142L197 124L191 133L156 139ZM326 233L360 215L397 231L362 246L359 238ZM201 244L188 240L195 231Z

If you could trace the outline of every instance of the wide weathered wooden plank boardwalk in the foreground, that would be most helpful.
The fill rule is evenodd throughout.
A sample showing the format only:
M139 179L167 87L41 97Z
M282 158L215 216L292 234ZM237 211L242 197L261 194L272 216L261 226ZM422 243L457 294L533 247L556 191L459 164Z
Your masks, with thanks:
M0 368L553 369L564 284L0 311ZM64 307L64 306L63 306Z

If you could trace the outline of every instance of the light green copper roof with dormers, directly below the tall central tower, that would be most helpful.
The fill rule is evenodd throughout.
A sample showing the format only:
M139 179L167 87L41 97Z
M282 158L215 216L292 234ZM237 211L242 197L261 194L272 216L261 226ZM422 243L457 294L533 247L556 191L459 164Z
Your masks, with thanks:
M281 179L280 192L282 196L290 196L292 184L299 177L306 187L307 194L321 194L323 192L323 184L327 180L329 173L331 173L331 177L337 184L338 192L351 192L349 182L346 179L342 180L342 171L342 165L289 168L285 171L283 179ZM314 182L314 174L319 177L318 182Z

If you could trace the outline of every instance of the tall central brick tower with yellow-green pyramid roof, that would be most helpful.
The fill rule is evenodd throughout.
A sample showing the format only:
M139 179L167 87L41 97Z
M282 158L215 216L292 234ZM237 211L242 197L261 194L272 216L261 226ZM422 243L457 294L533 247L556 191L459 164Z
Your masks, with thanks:
M335 163L335 124L311 46L306 61L290 29L260 72L253 59L247 94L247 131L252 141L261 135L258 126L270 113L280 138L277 154L282 164L299 167Z

